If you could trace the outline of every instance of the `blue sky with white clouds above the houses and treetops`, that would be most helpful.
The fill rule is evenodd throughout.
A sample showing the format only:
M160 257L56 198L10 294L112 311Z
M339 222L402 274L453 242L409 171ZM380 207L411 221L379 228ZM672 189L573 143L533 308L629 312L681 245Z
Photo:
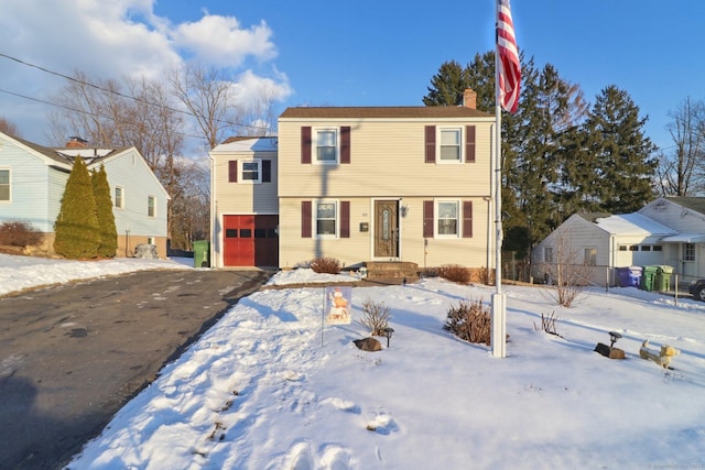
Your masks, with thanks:
M629 92L646 132L672 145L668 113L705 99L705 2L513 0L519 48L581 85ZM495 3L259 0L0 0L0 53L101 78L159 75L186 58L229 66L276 106L414 106L441 64L494 48ZM0 58L0 90L50 99L63 79ZM249 84L249 85L248 85ZM0 116L47 143L46 106L0 91Z

